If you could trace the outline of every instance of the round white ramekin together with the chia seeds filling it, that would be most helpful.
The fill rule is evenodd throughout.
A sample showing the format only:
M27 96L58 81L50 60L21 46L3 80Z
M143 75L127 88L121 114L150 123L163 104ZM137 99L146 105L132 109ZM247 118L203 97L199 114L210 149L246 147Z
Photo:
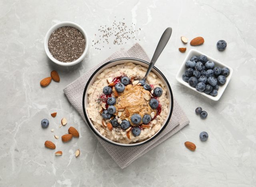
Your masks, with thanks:
M52 62L60 66L73 66L84 59L88 50L88 37L78 24L60 22L46 33L44 49Z

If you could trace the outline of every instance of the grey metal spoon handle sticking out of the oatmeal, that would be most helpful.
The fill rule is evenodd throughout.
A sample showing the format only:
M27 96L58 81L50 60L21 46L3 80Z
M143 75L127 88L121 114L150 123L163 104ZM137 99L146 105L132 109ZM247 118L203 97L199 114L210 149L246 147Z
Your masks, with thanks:
M169 41L170 37L172 35L172 28L171 27L168 27L164 33L162 34L159 42L158 42L158 45L156 47L156 50L154 52L154 55L152 57L152 60L149 64L149 67L148 67L148 70L146 72L146 75L144 76L144 78L142 80L146 80L149 72L152 70L154 64L156 63L156 60L158 59L158 57L160 56L160 54L162 53L162 51L164 50L164 47L166 46L167 42Z

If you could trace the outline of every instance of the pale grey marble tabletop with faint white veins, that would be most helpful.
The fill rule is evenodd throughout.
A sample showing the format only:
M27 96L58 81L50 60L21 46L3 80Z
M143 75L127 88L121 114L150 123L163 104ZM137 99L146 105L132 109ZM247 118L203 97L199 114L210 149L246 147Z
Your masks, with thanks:
M256 2L248 0L95 0L44 1L0 0L0 186L255 186L256 184ZM115 18L116 16L116 18ZM47 30L60 21L73 21L87 32L90 42L101 25L113 20L141 28L139 43L152 56L160 35L172 26L172 37L156 66L168 78L174 97L186 111L190 125L176 135L120 169L62 90L112 52L130 48L110 44L111 49L90 47L82 63L60 67L44 52ZM234 74L219 101L178 84L175 75L186 54L180 36L203 36L202 46L191 48L234 68ZM228 47L218 52L216 42ZM91 43L90 43L91 44ZM91 45L90 45L91 46ZM60 74L60 83L42 89L40 80L51 70ZM202 106L208 118L201 120L194 109ZM56 118L50 113L57 111ZM67 127L58 128L66 117L80 132L79 139L62 143ZM48 129L40 121L50 120ZM52 133L50 130L54 128ZM202 143L199 133L207 131ZM63 151L61 157L44 147L51 140ZM185 141L197 145L195 152ZM75 157L76 149L81 150Z

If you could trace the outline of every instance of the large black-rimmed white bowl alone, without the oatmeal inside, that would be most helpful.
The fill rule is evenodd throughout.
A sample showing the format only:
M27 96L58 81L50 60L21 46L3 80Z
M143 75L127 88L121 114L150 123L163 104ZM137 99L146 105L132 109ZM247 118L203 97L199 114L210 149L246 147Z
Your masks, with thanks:
M164 77L164 75L160 72L160 70L158 70L156 67L153 67L152 69L152 72L154 72L158 78L160 78L166 88L167 88L167 97L169 99L169 105L168 105L168 114L167 114L167 117L166 119L164 120L160 130L158 132L156 132L152 137L144 140L144 141L141 141L141 142L137 142L137 143L131 143L131 144L124 144L124 143L118 143L118 142L115 142L115 141L112 141L104 136L102 136L100 134L100 132L94 127L94 124L92 123L91 119L88 117L88 114L87 114L87 110L86 110L86 107L88 105L88 97L87 97L87 91L88 91L88 88L90 88L90 86L94 83L94 81L96 80L96 77L105 69L107 68L110 68L112 66L116 66L118 64L124 64L126 62L133 62L134 64L139 64L141 66L144 66L146 68L148 68L148 65L149 63L144 61L144 60L140 60L140 59L136 59L136 58L118 58L116 60L111 60L110 62L107 62L106 64L103 64L102 66L100 66L93 74L92 76L89 78L85 88L84 88L84 95L83 95L83 100L82 100L82 103L83 103L83 110L84 110L84 117L89 125L89 127L92 129L92 131L100 138L104 139L105 141L109 142L109 143L112 143L114 145L120 145L120 146L126 146L126 147L131 147L131 146L136 146L136 145L142 145L144 143L147 143L149 141L151 141L152 139L154 139L155 137L157 137L163 130L164 128L166 127L166 125L168 124L168 121L170 121L170 118L172 116L172 109L173 109L173 95L172 95L172 89L170 87L170 84L168 83L168 81L166 80L166 78Z

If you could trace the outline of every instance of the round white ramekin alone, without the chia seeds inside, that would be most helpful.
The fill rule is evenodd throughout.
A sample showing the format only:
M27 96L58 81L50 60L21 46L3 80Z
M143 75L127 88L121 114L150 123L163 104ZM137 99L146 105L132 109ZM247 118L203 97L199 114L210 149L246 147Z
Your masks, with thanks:
M52 32L54 32L54 30L56 30L56 29L58 29L60 27L64 27L64 26L71 26L71 27L77 28L84 35L84 39L85 39L85 49L84 49L84 52L83 52L83 54L78 59L76 59L73 62L60 62L60 61L56 60L52 56L52 54L50 53L50 51L48 49L48 40L49 40ZM73 23L73 22L60 22L60 23L57 23L54 26L52 26L48 30L48 32L46 33L46 36L44 38L44 49L45 49L45 52L46 52L47 56L50 58L50 60L52 60L52 62L54 62L54 63L56 63L56 64L58 64L60 66L73 66L75 64L78 64L79 62L81 62L84 59L84 57L86 55L86 52L88 50L88 37L87 37L86 32L84 31L84 29L80 25L78 25L76 23Z

